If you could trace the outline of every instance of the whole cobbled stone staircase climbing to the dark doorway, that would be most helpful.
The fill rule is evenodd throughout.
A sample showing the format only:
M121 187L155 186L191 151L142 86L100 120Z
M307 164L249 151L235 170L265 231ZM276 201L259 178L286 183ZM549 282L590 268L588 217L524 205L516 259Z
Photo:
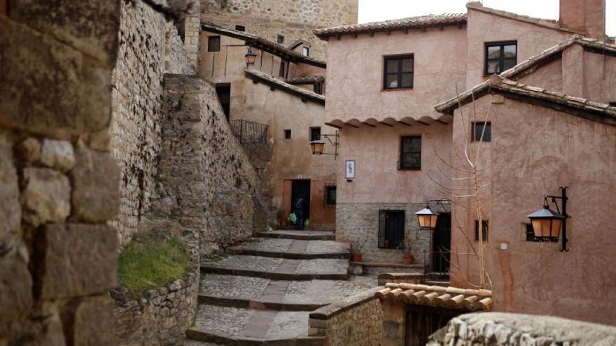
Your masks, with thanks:
M323 231L267 231L202 262L195 325L186 346L324 345L308 315L377 285L349 277L349 245Z

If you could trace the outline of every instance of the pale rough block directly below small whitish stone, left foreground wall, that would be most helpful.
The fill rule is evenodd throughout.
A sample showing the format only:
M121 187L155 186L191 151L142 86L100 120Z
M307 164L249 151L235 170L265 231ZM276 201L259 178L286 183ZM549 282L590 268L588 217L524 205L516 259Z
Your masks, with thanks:
M71 183L50 168L24 168L21 196L23 218L32 226L62 222L71 212Z

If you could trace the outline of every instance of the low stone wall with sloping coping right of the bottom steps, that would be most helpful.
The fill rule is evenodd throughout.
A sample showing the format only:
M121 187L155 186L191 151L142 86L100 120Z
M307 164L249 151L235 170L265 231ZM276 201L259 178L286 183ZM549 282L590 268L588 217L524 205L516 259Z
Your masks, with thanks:
M325 336L328 346L377 346L383 333L381 301L377 287L311 312L309 335Z

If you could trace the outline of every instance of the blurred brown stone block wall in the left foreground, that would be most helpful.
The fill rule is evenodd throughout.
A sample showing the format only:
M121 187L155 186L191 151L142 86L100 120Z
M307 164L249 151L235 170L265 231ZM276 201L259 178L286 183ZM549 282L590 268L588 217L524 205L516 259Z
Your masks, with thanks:
M0 345L111 345L120 0L9 5L0 13Z

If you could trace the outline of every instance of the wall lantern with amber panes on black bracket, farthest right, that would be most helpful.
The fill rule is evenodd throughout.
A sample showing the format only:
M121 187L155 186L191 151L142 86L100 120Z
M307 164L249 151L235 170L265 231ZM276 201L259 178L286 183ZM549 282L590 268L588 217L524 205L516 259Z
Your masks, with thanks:
M528 219L531 219L533 225L533 232L535 233L535 239L538 241L552 241L557 242L561 235L562 229L562 249L561 251L569 251L567 249L567 189L568 187L560 187L561 196L545 196L543 198L543 208L528 215ZM556 206L556 211L549 208L547 199L552 199L552 203ZM556 199L561 200L562 214L559 210L559 206L556 203Z

